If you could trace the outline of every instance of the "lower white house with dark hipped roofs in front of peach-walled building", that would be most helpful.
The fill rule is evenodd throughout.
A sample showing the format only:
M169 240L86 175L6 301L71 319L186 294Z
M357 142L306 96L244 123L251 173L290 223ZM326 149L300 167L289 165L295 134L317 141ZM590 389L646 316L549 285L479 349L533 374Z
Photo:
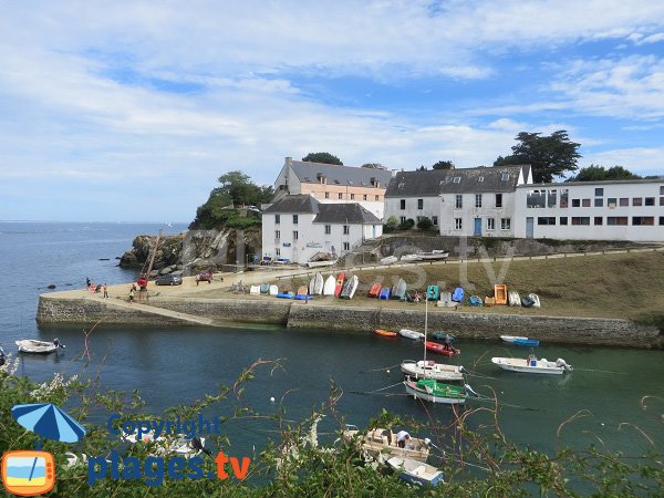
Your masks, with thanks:
M357 203L324 204L311 195L286 196L262 214L263 258L305 263L317 252L343 256L382 235L382 221Z

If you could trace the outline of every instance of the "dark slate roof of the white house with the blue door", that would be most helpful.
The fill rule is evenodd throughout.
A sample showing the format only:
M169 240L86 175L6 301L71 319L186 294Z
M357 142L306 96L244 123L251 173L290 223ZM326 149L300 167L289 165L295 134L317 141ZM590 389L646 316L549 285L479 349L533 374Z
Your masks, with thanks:
M390 183L385 197L432 197L440 194L513 191L519 181L519 174L525 172L525 168L530 168L530 166L401 172Z

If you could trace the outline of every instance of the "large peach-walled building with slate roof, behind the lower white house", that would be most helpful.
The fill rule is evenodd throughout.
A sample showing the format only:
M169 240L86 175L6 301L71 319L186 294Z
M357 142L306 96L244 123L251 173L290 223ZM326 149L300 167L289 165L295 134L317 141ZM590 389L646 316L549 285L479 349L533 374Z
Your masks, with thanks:
M274 181L274 200L308 194L321 204L357 203L383 218L384 196L392 172L308 163L287 157Z

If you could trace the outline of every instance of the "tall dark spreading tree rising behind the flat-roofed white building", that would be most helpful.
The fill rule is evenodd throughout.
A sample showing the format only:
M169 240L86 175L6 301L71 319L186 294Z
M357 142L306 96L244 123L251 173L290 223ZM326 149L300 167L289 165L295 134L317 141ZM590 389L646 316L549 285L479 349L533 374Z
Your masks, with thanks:
M512 154L498 156L494 166L530 164L536 183L552 181L554 176L577 170L577 159L581 157L577 151L581 144L570 142L564 129L553 132L550 136L540 135L519 133L516 137L519 144L512 146Z

